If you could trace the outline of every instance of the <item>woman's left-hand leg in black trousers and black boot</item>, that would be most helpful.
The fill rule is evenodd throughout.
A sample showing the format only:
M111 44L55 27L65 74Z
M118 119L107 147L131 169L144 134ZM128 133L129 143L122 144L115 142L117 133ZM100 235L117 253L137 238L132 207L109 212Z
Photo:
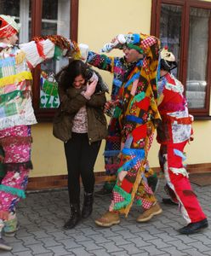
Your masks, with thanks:
M72 132L71 139L65 143L66 165L68 172L68 193L71 215L64 228L74 228L81 218L80 211L80 171L79 162L82 149L82 137L79 133Z

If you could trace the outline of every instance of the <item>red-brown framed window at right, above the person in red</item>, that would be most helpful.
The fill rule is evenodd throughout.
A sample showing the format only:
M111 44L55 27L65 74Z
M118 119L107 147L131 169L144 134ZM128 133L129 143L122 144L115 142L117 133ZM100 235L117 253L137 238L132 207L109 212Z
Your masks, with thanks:
M211 3L152 0L151 34L168 46L178 62L174 75L185 87L195 116L209 115L211 86Z

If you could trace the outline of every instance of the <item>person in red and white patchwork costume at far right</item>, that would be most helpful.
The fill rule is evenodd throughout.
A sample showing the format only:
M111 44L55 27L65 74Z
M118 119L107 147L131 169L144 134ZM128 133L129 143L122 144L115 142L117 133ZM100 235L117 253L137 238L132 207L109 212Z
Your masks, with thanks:
M168 195L174 203L179 203L182 216L188 223L179 232L189 235L208 227L208 220L191 189L183 165L184 148L192 136L193 117L188 113L183 85L170 73L177 66L173 53L163 48L160 55L158 110L162 123L157 127L157 142L161 144L159 160L167 181Z

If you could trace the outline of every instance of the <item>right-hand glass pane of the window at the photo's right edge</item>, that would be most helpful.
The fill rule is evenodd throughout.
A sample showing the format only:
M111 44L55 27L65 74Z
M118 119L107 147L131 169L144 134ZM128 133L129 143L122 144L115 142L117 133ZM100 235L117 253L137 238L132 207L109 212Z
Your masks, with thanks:
M190 9L186 98L189 108L205 108L210 10Z

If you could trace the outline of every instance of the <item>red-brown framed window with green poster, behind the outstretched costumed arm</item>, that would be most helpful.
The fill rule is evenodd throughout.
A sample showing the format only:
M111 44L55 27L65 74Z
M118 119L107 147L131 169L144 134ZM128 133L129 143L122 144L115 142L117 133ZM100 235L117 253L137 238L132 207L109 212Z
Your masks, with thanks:
M21 23L20 43L39 35L60 34L77 41L78 0L1 0L0 13ZM38 120L51 120L59 106L54 73L68 61L45 61L33 70L33 107ZM51 89L48 90L48 84ZM52 86L53 85L53 86Z

